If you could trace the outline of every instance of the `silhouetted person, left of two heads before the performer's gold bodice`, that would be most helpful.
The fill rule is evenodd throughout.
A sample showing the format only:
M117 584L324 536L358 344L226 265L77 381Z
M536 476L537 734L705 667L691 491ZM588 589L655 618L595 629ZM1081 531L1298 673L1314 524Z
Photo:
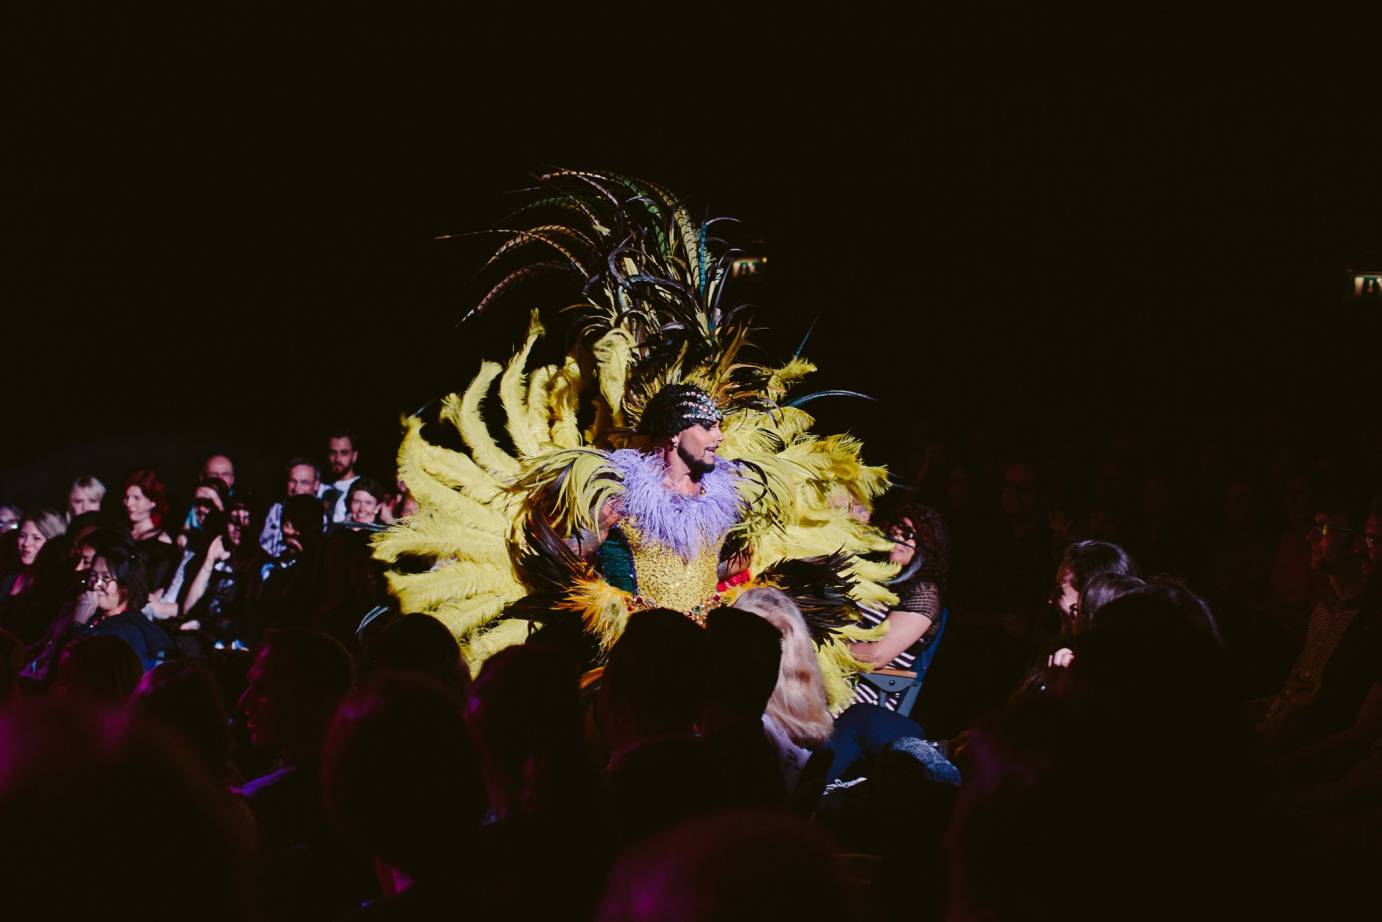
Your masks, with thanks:
M596 712L609 751L605 787L623 840L726 802L695 735L706 673L705 630L665 608L630 615L609 651Z

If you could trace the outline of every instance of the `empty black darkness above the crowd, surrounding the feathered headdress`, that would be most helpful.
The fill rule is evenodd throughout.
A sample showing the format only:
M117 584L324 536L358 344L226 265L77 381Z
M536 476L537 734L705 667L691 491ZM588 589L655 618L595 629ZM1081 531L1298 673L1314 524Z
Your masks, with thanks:
M1342 297L1382 254L1365 23L292 6L4 29L0 500L144 463L185 491L213 449L276 487L336 420L386 470L525 323L456 329L482 245L434 235L545 164L741 217L767 347L820 317L817 383L880 398L822 424L876 460L976 424L1327 434L1375 388Z

